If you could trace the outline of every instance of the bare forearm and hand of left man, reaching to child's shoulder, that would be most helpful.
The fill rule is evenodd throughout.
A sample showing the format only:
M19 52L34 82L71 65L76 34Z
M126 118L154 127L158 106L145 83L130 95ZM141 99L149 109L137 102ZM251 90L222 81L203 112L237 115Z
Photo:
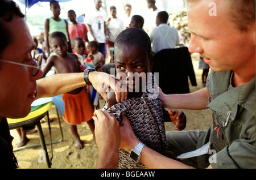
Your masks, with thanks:
M120 85L115 81L115 77L104 72L89 72L89 81L93 87L101 94L106 100L106 89L109 86L115 90L115 98L117 102L125 100L127 92L121 92ZM53 97L63 93L72 91L73 89L80 88L86 85L84 81L84 72L56 74L37 80L36 98L40 97Z

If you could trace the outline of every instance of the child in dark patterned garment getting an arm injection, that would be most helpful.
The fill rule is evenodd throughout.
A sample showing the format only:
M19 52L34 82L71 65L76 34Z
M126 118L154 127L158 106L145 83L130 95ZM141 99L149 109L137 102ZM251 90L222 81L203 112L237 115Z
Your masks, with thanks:
M114 91L109 91L107 112L114 115L119 123L122 121L122 115L126 115L135 135L142 143L176 159L172 152L167 152L164 120L172 121L176 125L179 122L176 130L180 131L185 128L186 118L181 111L169 110L169 114L166 114L162 108L155 77L150 73L154 61L150 37L140 28L129 28L119 34L114 48L116 79L122 80L122 87L127 88L128 94L127 100L117 103ZM122 77L124 74L126 77ZM134 78L135 74L139 75L139 78ZM134 162L128 152L120 149L118 168L146 166L141 162Z

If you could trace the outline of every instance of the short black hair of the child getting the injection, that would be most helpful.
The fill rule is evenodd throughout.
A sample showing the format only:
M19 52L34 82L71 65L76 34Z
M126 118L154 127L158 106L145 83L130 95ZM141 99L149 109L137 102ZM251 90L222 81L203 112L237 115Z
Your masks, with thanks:
M150 37L140 28L125 29L117 36L114 42L114 49L125 49L127 47L138 48L148 57L152 55Z

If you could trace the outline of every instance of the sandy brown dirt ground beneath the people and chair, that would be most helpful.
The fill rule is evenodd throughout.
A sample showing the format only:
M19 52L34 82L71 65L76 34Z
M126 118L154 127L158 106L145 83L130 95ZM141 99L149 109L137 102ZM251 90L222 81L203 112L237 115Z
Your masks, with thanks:
M190 91L204 88L201 83L202 70L198 69L198 54L192 54L193 67L196 74L197 86L192 87L189 82ZM101 106L104 100L101 100ZM183 110L187 115L187 127L185 130L192 129L206 129L212 123L212 113L208 110ZM53 105L49 110L49 116L53 121L51 122L52 141L55 142L61 139L59 123L57 121L56 109ZM46 142L49 142L48 123L42 123L42 128ZM93 135L87 123L77 126L84 148L75 149L74 139L71 130L67 123L61 118L61 128L63 130L63 140L60 143L52 144L53 158L52 168L56 169L92 169L96 166L98 148L96 142L93 140ZM166 131L173 131L175 126L171 122L166 123ZM16 130L11 130L11 135L14 136L13 146L17 147L16 142L18 139ZM27 145L40 144L39 135L37 132L29 134L27 137L30 141ZM20 149L15 151L14 154L18 159L19 169L43 169L47 168L46 163L40 163L40 156L42 155L40 146L34 148ZM49 157L51 157L51 146L47 145Z

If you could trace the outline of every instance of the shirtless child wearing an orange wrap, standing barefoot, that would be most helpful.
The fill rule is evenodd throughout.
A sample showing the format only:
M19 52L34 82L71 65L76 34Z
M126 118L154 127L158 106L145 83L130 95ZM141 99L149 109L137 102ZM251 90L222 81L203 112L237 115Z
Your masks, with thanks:
M43 69L44 76L52 66L55 67L57 74L81 72L81 64L77 59L77 55L68 53L67 38L64 33L53 32L49 36L49 44L56 55L51 55L47 59L46 67ZM75 137L75 148L81 149L83 144L77 132L77 125L87 122L94 138L93 109L90 105L89 96L84 87L81 87L63 94L62 98L65 102L63 118L68 123Z

